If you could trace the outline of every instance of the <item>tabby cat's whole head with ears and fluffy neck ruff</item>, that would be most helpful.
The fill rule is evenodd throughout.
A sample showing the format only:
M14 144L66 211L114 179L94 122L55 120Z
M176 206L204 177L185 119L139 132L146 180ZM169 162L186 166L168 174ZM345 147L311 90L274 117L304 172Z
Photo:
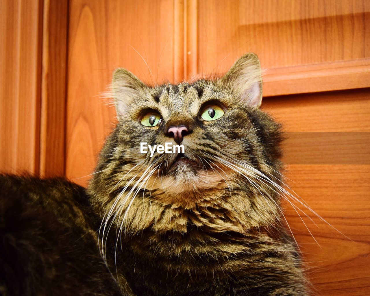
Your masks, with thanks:
M89 187L105 219L128 232L243 232L276 218L278 199L266 180L279 182L280 132L259 109L255 54L221 78L191 84L149 87L119 68L112 96L118 124ZM166 143L184 153L148 147Z

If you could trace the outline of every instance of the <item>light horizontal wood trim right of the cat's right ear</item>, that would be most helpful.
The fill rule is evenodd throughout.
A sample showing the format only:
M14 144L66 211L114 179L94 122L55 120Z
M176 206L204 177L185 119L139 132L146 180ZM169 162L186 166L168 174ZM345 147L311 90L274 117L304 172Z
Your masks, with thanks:
M265 70L263 95L370 87L370 58Z

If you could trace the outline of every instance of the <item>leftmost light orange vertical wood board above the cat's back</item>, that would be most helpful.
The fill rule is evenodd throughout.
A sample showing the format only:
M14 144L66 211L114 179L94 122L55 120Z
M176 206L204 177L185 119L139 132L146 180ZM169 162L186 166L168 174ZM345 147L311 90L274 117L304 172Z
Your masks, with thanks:
M0 1L0 171L38 174L42 1Z

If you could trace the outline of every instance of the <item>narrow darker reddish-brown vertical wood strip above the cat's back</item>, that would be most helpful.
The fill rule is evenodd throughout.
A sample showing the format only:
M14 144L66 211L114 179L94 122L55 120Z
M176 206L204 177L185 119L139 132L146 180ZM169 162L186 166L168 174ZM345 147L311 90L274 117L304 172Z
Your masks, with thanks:
M64 176L68 2L44 0L40 176Z

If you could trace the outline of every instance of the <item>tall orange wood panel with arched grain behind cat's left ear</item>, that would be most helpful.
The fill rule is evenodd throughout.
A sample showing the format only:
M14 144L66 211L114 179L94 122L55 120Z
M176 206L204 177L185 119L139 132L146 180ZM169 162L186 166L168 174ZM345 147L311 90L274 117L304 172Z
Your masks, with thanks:
M183 3L176 2L181 14ZM86 185L115 111L99 94L115 68L149 84L182 80L174 1L70 1L66 176ZM174 63L174 61L176 61Z

